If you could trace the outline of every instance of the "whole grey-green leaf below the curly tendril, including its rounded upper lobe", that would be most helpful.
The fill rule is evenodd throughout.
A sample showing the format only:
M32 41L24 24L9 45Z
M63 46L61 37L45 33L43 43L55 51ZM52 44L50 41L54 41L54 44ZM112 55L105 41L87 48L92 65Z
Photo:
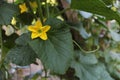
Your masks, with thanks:
M72 62L71 67L75 69L75 75L80 80L113 80L102 63L98 63L94 54L80 54L79 60ZM93 61L93 62L92 62Z

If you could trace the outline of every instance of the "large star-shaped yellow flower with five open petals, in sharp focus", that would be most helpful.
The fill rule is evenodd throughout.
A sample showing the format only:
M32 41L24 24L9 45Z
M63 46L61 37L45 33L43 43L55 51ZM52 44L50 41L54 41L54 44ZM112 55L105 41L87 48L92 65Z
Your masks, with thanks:
M50 29L49 25L42 26L42 23L37 20L35 25L28 26L28 30L32 32L31 38L40 37L42 40L47 40L47 31Z

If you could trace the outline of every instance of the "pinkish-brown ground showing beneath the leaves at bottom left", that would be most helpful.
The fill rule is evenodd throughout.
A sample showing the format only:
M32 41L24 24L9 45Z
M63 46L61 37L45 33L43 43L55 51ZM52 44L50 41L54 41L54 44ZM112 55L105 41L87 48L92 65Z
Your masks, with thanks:
M15 64L10 64L11 69L9 72L12 74L12 80L23 80L24 77L32 77L36 73L39 74L37 80L41 80L41 77L45 76L43 71L44 68L40 60L37 59L36 62L38 65L31 64L30 66L16 66ZM47 75L49 76L47 80L60 80L57 76L49 75L49 72Z

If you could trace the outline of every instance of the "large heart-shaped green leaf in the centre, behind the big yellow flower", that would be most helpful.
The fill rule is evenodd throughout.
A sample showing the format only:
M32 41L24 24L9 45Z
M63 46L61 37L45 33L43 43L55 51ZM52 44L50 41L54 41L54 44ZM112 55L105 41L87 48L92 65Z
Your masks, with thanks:
M49 19L46 24L52 27L48 40L35 39L29 44L45 68L54 73L64 74L73 57L73 43L69 28L62 26L62 21L58 19Z

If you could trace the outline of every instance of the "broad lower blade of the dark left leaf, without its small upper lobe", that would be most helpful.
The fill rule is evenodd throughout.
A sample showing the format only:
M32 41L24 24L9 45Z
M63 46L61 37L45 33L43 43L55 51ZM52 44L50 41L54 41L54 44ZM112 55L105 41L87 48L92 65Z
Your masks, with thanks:
M20 66L26 66L36 61L37 55L29 46L16 46L11 49L5 61L12 62Z

